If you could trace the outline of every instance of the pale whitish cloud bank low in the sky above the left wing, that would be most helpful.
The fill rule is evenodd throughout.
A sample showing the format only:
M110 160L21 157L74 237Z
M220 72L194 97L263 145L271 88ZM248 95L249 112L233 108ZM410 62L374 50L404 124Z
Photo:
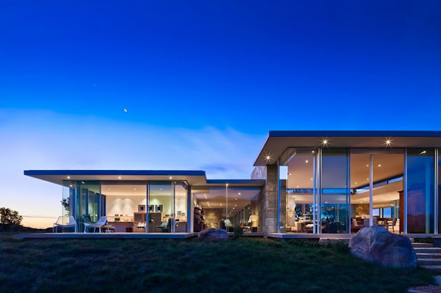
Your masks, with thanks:
M0 137L0 206L50 217L61 213L61 186L26 177L23 170L203 169L209 179L247 179L264 140L234 129L16 109L0 109Z

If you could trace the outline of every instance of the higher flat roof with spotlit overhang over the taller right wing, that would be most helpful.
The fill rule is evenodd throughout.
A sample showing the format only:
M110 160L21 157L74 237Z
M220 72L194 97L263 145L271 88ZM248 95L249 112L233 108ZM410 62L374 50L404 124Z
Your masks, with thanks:
M288 147L323 146L324 139L329 148L441 147L441 131L269 131L254 166L274 164Z

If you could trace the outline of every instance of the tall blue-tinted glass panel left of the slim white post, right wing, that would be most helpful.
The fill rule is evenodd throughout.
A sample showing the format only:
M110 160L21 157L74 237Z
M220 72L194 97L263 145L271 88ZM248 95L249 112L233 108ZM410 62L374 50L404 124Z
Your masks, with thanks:
M322 233L349 232L347 149L322 149L320 221Z

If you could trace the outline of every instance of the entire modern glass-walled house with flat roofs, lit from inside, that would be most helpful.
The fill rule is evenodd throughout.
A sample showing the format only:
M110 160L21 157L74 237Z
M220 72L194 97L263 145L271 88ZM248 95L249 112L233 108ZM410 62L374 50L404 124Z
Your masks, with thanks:
M441 234L441 131L269 131L249 180L204 171L30 170L63 186L83 231L102 215L116 232L347 237L382 225Z

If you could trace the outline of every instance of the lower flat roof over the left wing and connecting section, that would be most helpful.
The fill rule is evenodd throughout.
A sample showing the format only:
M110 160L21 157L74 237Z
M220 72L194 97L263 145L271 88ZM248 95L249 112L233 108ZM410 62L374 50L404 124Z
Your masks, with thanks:
M263 186L265 180L207 180L205 171L184 170L26 170L24 175L62 185L73 181L186 181L190 186Z

